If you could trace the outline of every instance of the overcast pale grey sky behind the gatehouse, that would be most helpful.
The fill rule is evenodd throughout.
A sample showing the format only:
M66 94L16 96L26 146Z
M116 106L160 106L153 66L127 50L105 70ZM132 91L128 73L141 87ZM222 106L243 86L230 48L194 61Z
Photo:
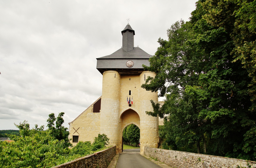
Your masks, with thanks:
M196 0L0 1L0 130L27 120L47 125L65 112L65 126L101 96L96 58L122 46L121 31L150 55L167 29L188 21Z

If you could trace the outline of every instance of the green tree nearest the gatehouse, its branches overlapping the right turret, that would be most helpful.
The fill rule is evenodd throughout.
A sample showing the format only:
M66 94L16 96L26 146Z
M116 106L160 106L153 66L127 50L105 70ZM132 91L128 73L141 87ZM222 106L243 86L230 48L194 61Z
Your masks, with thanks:
M155 56L150 58L150 67L144 66L156 72L156 77L149 77L142 87L151 91L160 90L159 96L166 95L166 103L161 109L159 104L151 101L154 112L146 113L161 118L164 114L170 114L169 120L173 125L170 132L180 137L177 144L184 146L196 143L197 152L201 153L200 141L205 139L205 122L198 117L201 105L200 102L192 101L185 91L187 85L198 85L199 75L206 64L201 61L202 52L188 43L196 38L192 26L190 22L178 21L167 30L168 41L158 40L160 47Z

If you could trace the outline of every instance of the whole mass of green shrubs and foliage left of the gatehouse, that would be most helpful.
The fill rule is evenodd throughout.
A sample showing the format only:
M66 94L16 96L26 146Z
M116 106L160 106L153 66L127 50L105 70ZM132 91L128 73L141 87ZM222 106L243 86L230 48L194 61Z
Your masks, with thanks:
M62 114L59 115L59 123L63 123L62 116ZM53 115L49 115L48 126L50 126L49 123L55 121L54 118ZM54 125L53 122L52 126ZM49 168L57 166L100 151L106 147L109 140L105 134L99 134L98 137L95 137L93 144L89 141L79 142L77 146L69 148L66 136L62 136L63 139L60 140L57 139L60 137L59 134L56 136L57 128L66 131L62 124L57 128L55 127L55 131L52 127L52 129L49 127L48 130L44 131L44 126L38 127L38 125L31 129L27 121L23 121L16 127L20 129L20 136L8 135L14 142L0 141L1 168ZM65 132L62 135L65 135Z

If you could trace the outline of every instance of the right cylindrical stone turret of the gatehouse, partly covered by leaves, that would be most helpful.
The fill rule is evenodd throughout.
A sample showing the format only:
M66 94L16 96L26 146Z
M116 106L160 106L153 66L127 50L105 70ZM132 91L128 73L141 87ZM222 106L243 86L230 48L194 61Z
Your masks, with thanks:
M140 75L140 85L146 82L146 79L150 77L155 77L156 74L150 71L143 71ZM159 143L159 133L158 133L158 117L153 117L147 115L146 111L152 111L153 107L150 100L158 103L157 92L146 91L146 89L140 88L140 153L143 154L144 147L149 146L157 148Z

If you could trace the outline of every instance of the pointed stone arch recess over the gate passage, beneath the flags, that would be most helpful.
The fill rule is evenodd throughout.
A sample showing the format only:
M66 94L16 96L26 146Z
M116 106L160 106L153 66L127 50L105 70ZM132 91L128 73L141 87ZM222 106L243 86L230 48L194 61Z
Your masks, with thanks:
M120 116L120 146L119 146L119 149L122 149L123 130L125 127L127 127L130 124L134 124L140 128L140 116L136 111L134 111L132 109L128 109L128 110L124 111ZM119 152L121 152L121 151L119 151Z

